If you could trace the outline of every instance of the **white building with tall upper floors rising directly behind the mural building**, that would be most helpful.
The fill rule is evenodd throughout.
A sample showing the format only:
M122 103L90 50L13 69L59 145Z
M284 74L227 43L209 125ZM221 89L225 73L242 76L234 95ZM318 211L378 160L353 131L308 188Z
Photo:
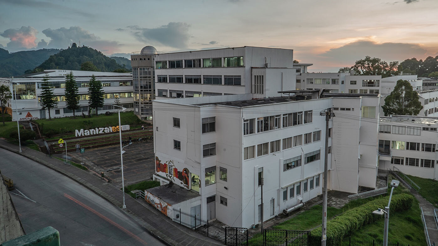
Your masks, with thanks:
M311 64L304 64L310 66ZM157 99L252 93L279 96L294 90L297 70L292 49L236 47L155 55Z

